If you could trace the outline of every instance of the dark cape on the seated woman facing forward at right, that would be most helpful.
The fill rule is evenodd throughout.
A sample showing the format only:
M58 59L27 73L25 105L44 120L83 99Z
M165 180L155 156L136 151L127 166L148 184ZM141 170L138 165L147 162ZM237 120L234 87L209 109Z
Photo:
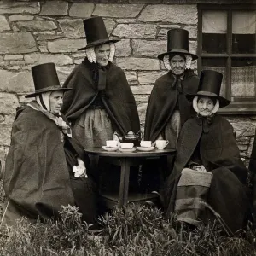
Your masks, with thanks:
M202 164L206 166L207 172L213 174L208 203L220 214L231 231L239 230L249 207L245 186L247 169L241 161L232 125L218 115L213 118L208 133L202 131L202 125L198 124L196 117L183 125L173 172L161 191L166 213L173 212L177 182L198 143Z

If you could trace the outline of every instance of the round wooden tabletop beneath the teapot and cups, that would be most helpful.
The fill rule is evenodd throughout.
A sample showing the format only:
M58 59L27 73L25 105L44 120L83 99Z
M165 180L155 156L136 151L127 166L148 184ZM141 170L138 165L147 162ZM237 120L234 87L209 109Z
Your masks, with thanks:
M109 156L109 157L155 157L155 156L164 156L174 154L176 152L175 149L156 149L154 148L152 151L133 151L133 152L121 152L119 149L116 151L106 151L103 148L85 148L84 151L87 154L99 155L99 156Z

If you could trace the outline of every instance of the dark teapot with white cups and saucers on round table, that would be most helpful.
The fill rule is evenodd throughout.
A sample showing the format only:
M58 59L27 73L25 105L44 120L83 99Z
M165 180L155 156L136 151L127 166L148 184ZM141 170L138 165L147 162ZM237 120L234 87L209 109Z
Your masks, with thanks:
M141 140L142 133L139 132L137 134L129 134L125 137L119 137L119 141L116 140L108 140L106 141L106 146L102 146L104 150L107 151L116 151L119 149L121 152L134 152L136 150L139 151L152 151L154 146L151 141L143 141ZM156 140L155 147L157 149L164 149L168 145L167 140Z

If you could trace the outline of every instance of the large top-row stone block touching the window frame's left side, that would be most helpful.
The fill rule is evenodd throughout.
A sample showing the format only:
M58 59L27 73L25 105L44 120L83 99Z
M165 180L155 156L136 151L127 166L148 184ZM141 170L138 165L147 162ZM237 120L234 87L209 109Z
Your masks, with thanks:
M196 4L152 4L143 9L138 21L172 22L177 24L197 24Z

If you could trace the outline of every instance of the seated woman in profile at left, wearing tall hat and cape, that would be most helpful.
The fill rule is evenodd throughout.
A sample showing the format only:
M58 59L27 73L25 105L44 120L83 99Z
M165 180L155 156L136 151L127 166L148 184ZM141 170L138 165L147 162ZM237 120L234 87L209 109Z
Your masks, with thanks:
M36 100L17 108L3 177L4 221L58 217L61 206L79 207L88 224L96 220L96 185L88 156L72 137L61 105L64 90L54 63L32 67ZM85 164L85 165L84 165Z

